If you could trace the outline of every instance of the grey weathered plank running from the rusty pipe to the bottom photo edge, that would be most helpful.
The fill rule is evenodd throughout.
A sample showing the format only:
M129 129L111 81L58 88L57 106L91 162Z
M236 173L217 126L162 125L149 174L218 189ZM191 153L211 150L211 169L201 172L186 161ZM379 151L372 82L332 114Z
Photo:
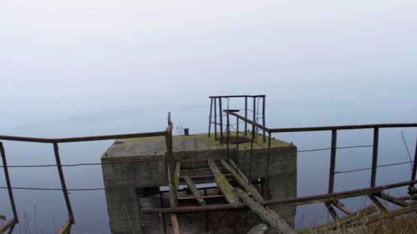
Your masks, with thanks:
M266 222L268 225L272 227L277 233L296 233L294 229L285 222L281 217L279 217L276 213L271 213L261 204L254 201L248 193L244 192L243 190L236 188L235 189L239 197L243 200L243 202L248 205L248 207L256 213L263 222Z

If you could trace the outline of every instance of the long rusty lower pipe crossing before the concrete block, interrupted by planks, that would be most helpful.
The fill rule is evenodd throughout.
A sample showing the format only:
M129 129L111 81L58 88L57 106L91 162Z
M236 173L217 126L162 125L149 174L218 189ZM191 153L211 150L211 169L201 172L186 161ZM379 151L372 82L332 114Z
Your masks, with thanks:
M302 196L298 198L284 198L267 200L261 203L263 206L285 206L285 205L307 205L313 203L323 203L326 201L334 201L343 198L351 198L355 196L364 196L368 194L375 194L383 190L389 190L394 187L403 187L417 183L417 180L404 181L400 183L390 183L387 185L367 187L357 190L348 190L344 192L334 192L332 194L318 194L313 196ZM207 211L226 211L233 209L247 209L248 207L242 203L240 204L224 204L224 205L206 205L204 207L178 207L176 209L158 209L158 208L143 208L143 213L199 213Z

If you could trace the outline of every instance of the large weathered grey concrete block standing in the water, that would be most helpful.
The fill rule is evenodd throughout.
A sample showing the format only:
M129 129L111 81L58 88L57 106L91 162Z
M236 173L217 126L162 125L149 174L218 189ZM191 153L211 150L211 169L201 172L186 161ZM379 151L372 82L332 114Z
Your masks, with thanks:
M230 139L236 141L235 137ZM206 134L174 136L174 159L181 161L180 177L193 177L197 187L202 184L215 186L207 184L213 183L213 179L209 179L212 174L206 160L229 157L260 190L265 200L296 197L296 146L271 140L269 169L266 171L267 143L263 143L259 137L259 141L253 144L250 159L250 142L246 138L239 138L239 142L237 153L236 144L229 144L229 151L226 151L226 144L220 144L213 136L209 138ZM169 218L141 213L144 207L169 207L169 196L160 192L166 190L164 186L168 185L165 152L165 138L161 136L117 140L102 156L104 185L109 188L106 190L106 199L112 233L164 233L164 226L167 233L171 233ZM219 164L217 166L221 168ZM265 177L269 178L267 183L256 184ZM233 179L228 180L234 183ZM180 179L180 190L184 184ZM226 203L219 194L216 188L206 190L204 196L208 205ZM187 191L178 194L182 205L195 203L194 199L181 198L183 196L190 195ZM276 212L294 226L296 207L276 209ZM181 233L247 233L260 222L249 209L178 215Z

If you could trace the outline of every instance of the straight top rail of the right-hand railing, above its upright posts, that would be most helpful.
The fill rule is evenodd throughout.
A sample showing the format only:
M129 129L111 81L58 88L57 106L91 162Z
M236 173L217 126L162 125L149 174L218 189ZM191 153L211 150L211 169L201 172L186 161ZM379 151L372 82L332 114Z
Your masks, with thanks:
M270 129L273 133L290 133L296 131L331 131L331 130L351 130L351 129L374 129L374 128L392 128L392 127L417 127L417 123L395 123L395 124L377 124L377 125L340 125L326 127L294 127L283 129Z

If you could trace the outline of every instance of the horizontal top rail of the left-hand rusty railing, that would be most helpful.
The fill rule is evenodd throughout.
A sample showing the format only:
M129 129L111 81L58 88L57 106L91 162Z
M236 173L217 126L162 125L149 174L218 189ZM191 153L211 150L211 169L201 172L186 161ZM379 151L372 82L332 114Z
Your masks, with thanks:
M167 127L167 131L171 131L172 127ZM153 136L165 135L166 131L154 131L149 133L129 133L117 135L93 135L78 138L27 138L12 135L0 135L0 140L11 140L16 142L38 142L38 143L68 143L68 142L91 142L96 140L116 140L128 138L147 138Z

